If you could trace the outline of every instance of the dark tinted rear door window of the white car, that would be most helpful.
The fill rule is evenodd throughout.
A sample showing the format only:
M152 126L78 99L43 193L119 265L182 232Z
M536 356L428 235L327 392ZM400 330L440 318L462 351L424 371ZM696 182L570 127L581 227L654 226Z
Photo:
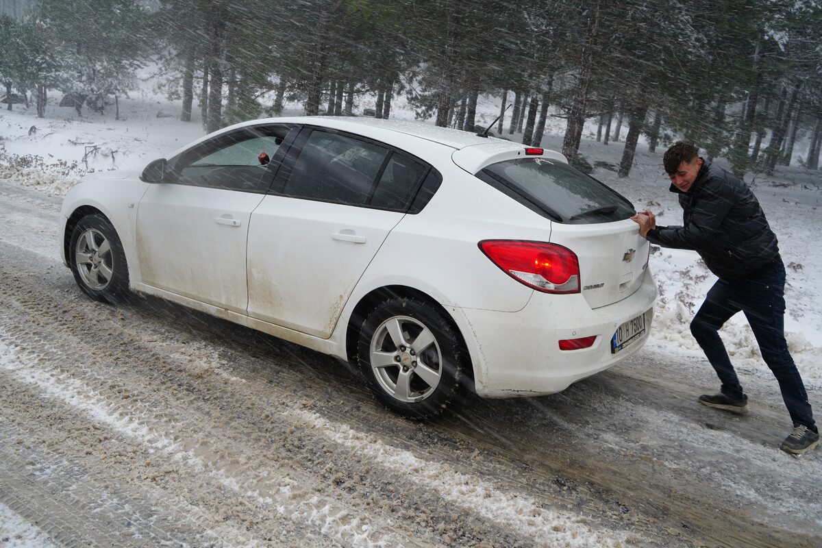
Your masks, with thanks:
M389 150L364 140L312 131L288 180L285 196L366 205Z

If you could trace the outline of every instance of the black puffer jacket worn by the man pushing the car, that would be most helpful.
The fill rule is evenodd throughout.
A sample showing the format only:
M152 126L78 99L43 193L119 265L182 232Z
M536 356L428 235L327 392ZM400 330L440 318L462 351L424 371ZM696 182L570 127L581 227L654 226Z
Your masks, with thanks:
M692 249L719 278L744 279L779 256L776 234L745 182L711 163L702 163L687 192L679 194L685 226L657 227L648 241Z

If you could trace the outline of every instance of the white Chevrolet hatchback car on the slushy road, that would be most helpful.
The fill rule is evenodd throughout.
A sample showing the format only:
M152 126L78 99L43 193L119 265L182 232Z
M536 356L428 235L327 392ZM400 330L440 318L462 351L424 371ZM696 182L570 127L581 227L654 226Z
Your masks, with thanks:
M77 184L61 250L92 298L156 295L331 354L430 417L461 379L552 394L642 346L657 288L632 214L549 150L283 117Z

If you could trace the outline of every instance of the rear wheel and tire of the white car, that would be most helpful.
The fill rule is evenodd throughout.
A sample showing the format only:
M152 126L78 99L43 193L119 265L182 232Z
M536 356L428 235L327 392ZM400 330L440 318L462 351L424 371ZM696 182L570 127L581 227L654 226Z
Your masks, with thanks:
M466 359L445 312L415 298L381 302L359 331L357 362L368 388L405 417L443 412L459 389Z

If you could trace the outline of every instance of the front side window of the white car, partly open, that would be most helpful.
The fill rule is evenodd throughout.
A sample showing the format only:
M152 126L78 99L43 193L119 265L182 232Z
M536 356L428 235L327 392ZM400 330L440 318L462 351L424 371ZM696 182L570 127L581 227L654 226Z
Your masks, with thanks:
M176 161L176 182L193 187L265 192L266 165L289 130L287 126L250 127L208 140Z

